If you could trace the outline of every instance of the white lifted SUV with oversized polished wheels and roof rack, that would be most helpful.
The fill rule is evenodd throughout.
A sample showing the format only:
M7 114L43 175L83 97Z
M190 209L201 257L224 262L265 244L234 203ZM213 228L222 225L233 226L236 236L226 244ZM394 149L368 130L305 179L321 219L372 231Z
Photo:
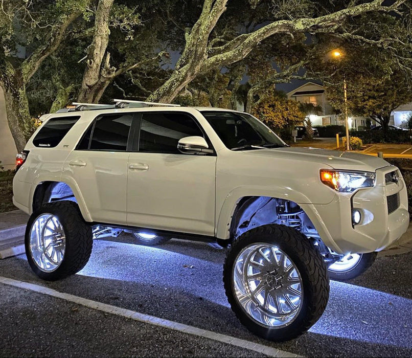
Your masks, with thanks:
M217 242L236 316L282 341L322 316L328 276L361 274L408 227L405 183L382 159L290 148L237 111L136 105L45 115L19 155L13 202L42 279L81 270L93 237Z

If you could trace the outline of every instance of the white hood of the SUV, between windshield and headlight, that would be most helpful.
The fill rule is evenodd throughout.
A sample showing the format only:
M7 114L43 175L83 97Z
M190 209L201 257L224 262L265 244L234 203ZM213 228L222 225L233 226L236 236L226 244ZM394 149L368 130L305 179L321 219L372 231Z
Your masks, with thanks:
M274 148L243 151L247 155L271 156L273 158L290 159L296 161L323 163L333 169L362 170L375 172L376 169L390 165L376 156L348 153L337 150L319 148Z

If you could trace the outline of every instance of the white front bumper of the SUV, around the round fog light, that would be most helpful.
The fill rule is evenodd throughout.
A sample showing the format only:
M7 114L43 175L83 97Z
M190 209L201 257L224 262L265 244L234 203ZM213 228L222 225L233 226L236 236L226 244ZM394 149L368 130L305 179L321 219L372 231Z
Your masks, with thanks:
M409 226L405 183L401 176L397 183L385 183L385 174L394 170L398 169L388 166L376 170L373 188L336 193L326 205L302 205L306 213L311 212L309 218L330 249L339 254L381 251L405 233ZM390 195L399 196L399 206L388 213ZM352 209L361 212L358 225L352 225Z

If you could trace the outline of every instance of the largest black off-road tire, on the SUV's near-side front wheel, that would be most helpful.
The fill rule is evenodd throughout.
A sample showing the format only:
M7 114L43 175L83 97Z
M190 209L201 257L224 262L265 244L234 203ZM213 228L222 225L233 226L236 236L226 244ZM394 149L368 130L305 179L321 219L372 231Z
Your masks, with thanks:
M276 328L263 325L240 306L234 289L235 262L247 245L276 244L293 261L302 277L302 308L286 326ZM286 341L306 332L322 316L329 299L327 266L310 241L300 232L283 225L264 225L243 233L227 251L223 266L223 283L227 299L240 322L248 330L270 341Z

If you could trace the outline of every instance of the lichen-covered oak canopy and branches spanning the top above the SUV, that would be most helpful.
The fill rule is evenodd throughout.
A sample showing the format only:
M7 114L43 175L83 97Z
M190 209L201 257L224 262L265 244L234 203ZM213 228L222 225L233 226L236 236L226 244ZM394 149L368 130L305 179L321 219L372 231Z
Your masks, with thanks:
M324 64L336 47L362 58L378 53L369 60L388 76L390 68L412 68L411 0L3 0L1 7L0 85L19 150L32 115L53 101L171 102L190 87L203 93L207 82L195 83L203 78L209 99L228 105L247 73L251 105L292 78L336 82L340 68ZM29 56L17 59L18 47Z

